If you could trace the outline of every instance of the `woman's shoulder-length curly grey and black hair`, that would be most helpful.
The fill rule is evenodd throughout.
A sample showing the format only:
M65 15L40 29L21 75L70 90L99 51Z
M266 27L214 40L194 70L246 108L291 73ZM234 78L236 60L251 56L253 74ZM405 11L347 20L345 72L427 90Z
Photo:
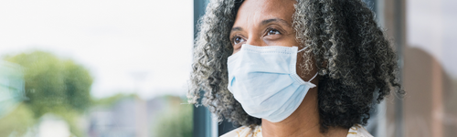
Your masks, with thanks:
M236 125L260 125L228 91L227 59L233 48L229 41L242 0L215 0L198 22L193 71L187 98L196 105ZM312 65L320 75L318 108L321 131L328 127L366 125L370 110L393 87L402 97L397 55L374 13L360 0L297 0L292 26L303 56L311 56L299 67L309 72ZM373 101L375 100L375 101Z

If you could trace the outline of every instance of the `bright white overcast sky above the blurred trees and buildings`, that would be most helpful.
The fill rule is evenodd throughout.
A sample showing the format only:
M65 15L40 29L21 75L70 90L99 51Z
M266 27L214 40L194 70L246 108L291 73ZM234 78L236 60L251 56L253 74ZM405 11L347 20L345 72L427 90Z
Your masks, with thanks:
M193 1L0 1L0 55L45 50L90 69L91 94L185 95Z

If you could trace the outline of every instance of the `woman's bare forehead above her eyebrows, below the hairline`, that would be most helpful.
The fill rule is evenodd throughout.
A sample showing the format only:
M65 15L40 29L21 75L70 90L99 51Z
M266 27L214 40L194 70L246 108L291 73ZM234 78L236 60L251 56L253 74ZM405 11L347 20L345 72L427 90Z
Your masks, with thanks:
M255 25L264 19L281 18L292 23L295 0L246 0L239 6L235 26Z

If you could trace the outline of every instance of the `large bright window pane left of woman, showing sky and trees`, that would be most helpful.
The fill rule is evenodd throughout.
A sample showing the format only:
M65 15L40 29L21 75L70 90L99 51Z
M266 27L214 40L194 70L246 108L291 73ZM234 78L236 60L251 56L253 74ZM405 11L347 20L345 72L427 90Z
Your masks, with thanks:
M192 135L192 1L0 1L0 37L0 136Z

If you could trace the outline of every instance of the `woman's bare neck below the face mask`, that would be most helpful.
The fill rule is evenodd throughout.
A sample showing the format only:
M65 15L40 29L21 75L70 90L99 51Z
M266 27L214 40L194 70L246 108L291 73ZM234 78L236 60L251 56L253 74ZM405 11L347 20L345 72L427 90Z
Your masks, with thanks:
M345 137L348 132L348 129L344 128L329 128L324 134L320 132L317 87L308 91L297 110L284 121L271 122L262 119L261 125L263 137Z

